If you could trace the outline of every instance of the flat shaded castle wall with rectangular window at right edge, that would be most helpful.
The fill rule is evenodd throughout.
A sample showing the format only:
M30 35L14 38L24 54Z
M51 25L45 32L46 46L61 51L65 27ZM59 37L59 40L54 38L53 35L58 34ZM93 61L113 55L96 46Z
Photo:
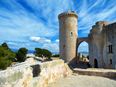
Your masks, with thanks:
M107 68L116 68L116 23L109 24L104 29L105 47L104 60ZM109 45L112 45L112 53L109 53ZM105 51L104 50L104 51ZM111 61L112 60L112 64Z

